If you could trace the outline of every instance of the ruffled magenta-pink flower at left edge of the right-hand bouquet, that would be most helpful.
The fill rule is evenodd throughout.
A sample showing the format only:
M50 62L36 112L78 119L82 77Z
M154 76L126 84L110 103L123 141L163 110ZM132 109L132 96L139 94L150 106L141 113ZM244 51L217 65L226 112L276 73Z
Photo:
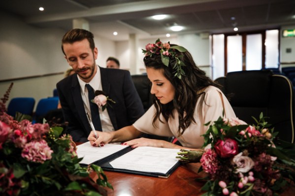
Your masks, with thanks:
M218 159L217 154L211 148L207 149L206 152L202 155L200 163L205 172L214 174L218 169Z

